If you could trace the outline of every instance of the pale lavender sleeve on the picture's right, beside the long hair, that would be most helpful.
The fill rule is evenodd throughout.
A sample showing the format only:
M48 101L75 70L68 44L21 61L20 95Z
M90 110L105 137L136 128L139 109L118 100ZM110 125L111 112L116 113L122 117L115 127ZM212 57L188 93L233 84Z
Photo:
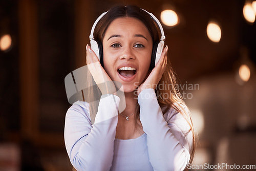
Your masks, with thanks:
M186 119L176 110L163 115L154 89L138 96L140 121L147 135L150 162L154 170L183 170L190 159L193 134ZM185 111L188 109L184 106Z

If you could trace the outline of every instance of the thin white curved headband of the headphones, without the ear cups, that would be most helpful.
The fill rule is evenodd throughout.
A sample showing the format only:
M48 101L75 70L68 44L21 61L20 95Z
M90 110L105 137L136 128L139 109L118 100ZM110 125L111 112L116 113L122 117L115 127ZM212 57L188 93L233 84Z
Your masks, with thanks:
M145 11L146 13L150 14L151 18L157 23L158 27L160 28L160 31L161 31L161 39L160 40L165 40L165 36L164 36L164 31L163 31L163 27L161 25L161 23L159 22L159 20L157 19L157 17L155 15L153 15L152 13L150 12L147 12L146 10L142 9L141 10ZM99 22L99 20L106 14L108 13L109 11L106 11L106 12L103 12L97 19L96 21L94 22L93 24L93 27L92 27L92 30L91 30L91 34L89 36L90 40L94 39L94 36L93 36L93 33L94 33L94 29L97 25L97 23Z

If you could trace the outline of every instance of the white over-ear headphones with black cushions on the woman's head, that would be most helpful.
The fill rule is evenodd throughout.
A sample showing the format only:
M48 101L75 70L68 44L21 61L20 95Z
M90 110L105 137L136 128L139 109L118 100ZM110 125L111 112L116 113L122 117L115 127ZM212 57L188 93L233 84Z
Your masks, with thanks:
M145 12L147 12L144 9L141 9ZM103 64L103 47L102 44L100 42L97 42L94 39L93 33L94 33L94 29L97 25L97 23L99 22L99 20L106 14L107 12L102 13L94 22L92 30L91 30L91 34L89 36L90 38L90 42L91 42L91 48L92 50L95 52L95 54L97 55L97 57L99 58L99 61L101 63L101 66L104 67ZM161 39L159 42L157 42L156 44L153 45L153 49L152 49L152 57L151 57L151 65L150 65L150 69L153 70L153 68L157 65L157 62L159 61L160 57L161 57L161 53L163 51L164 48L164 41L165 41L165 36L164 36L164 32L163 32L163 27L160 24L159 20L157 19L157 17L155 17L155 15L153 15L150 12L147 12L148 14L150 14L151 18L157 23L158 27L160 28L161 31Z

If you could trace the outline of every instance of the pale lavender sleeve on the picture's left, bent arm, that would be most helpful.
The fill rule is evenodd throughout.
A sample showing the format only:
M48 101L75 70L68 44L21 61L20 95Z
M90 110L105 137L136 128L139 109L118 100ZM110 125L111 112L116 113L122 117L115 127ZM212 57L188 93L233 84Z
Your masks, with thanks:
M86 102L77 101L67 111L65 145L76 170L111 168L119 102L118 96L101 96L94 124Z

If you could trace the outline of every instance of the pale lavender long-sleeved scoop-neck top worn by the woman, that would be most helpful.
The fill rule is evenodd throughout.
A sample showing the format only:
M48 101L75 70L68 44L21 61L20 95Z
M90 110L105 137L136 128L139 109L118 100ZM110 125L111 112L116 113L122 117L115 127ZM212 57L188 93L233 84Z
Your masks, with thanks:
M115 95L101 98L94 124L87 102L77 101L68 110L65 144L72 165L83 171L183 170L193 146L185 118L173 108L163 115L155 91L146 89L138 96L145 134L136 139L115 139L119 101Z

